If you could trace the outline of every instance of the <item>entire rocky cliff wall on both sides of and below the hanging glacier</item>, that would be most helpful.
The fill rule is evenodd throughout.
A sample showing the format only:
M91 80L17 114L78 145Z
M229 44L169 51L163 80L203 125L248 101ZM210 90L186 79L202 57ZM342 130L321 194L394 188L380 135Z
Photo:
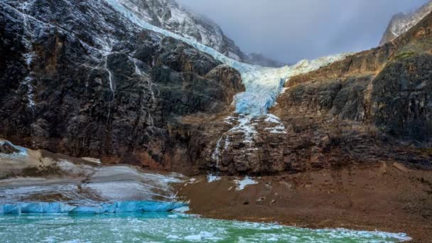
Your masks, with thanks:
M237 70L125 16L102 0L2 1L0 136L182 173L431 168L431 15L291 77L272 114L256 117L234 112Z

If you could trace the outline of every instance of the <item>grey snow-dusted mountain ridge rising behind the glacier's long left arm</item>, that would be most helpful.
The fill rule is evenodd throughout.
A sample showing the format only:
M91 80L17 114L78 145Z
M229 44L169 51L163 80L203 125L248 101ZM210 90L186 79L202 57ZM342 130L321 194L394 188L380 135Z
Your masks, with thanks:
M119 0L119 3L153 26L210 46L228 58L267 67L284 66L264 55L244 54L223 33L220 26L209 18L180 6L174 0Z

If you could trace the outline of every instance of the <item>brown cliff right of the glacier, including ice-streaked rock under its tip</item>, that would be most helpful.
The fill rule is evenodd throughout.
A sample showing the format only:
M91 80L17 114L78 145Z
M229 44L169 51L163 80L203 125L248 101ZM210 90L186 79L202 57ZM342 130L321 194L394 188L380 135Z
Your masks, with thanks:
M432 168L431 30L429 15L392 43L291 77L270 110L280 119L248 121L251 142L220 133L207 166L234 174L381 161Z

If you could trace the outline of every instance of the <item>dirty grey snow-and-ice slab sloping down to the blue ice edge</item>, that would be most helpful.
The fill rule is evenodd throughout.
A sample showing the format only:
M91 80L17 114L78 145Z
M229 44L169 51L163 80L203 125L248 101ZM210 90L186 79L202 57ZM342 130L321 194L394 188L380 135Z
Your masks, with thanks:
M125 200L174 202L176 193L172 184L182 183L184 179L177 173L148 173L133 166L106 166L41 157L38 151L0 140L0 148L4 144L8 145L6 151L13 153L0 153L0 171L4 175L9 175L10 171L22 173L21 177L0 180L0 203L4 204L40 198L79 205ZM43 173L28 178L23 172L27 168Z

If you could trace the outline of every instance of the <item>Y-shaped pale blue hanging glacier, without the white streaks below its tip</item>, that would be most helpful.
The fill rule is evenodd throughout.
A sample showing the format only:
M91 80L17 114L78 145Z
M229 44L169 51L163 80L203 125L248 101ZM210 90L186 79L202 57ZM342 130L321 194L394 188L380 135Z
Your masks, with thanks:
M352 54L342 53L311 61L301 60L296 65L286 66L284 68L264 68L257 65L250 65L228 58L207 45L202 45L202 43L147 23L139 18L139 16L136 16L133 11L127 9L126 6L121 4L121 0L105 1L112 6L114 10L121 13L137 26L188 43L201 52L211 55L221 63L225 63L225 65L237 69L242 75L242 82L246 91L241 92L234 97L236 112L251 117L259 117L267 114L269 108L274 105L276 98L284 89L286 80L290 77L317 70L320 67L342 60L346 58L347 55Z

